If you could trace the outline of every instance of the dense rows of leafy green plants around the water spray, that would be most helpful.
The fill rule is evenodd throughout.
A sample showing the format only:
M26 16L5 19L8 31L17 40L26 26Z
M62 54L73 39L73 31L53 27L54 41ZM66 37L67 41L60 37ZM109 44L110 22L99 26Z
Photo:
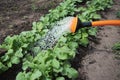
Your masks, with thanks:
M33 43L44 36L56 21L67 15L73 16L75 12L80 12L81 14L77 16L82 21L100 19L97 11L108 8L111 2L111 0L102 1L92 0L87 7L78 8L76 3L81 3L82 0L65 0L55 9L49 10L49 14L41 17L39 22L33 22L31 31L12 37L8 36L0 46L8 51L0 58L0 73L22 61L23 71L17 75L16 80L65 80L65 77L75 79L78 72L71 67L70 60L75 57L79 45L88 45L88 37L96 35L96 28L82 28L76 33L65 34L52 49L40 51L35 57L30 55L29 50ZM102 7L101 5L103 8L96 9L95 6Z

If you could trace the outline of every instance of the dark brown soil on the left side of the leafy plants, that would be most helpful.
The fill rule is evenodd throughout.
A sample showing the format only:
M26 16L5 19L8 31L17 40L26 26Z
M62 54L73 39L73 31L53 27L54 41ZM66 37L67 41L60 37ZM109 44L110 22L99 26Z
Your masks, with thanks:
M62 0L1 0L0 1L0 44L6 36L31 30L32 22L38 21L48 10L55 8ZM0 49L4 55L5 50ZM14 65L0 75L0 80L15 80L21 71L21 64Z

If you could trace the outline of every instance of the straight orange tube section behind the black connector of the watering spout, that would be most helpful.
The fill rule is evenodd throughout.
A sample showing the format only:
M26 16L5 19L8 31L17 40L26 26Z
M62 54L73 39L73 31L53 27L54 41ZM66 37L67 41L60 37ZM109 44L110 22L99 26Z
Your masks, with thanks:
M92 26L115 25L120 26L120 20L103 20L92 22Z

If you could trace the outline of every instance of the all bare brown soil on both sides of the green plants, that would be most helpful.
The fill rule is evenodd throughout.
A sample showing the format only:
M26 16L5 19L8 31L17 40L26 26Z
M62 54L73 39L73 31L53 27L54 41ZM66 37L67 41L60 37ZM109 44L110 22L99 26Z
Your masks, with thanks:
M55 8L62 0L2 0L0 1L0 44L8 35L31 30L32 22L48 10ZM114 0L115 1L115 0ZM120 0L113 7L101 12L103 19L118 19L116 12ZM100 27L96 37L90 37L88 48L79 47L79 54L73 60L73 66L79 71L77 80L120 80L120 60L115 58L112 46L120 41L120 27ZM4 50L0 50L0 54ZM21 70L21 64L14 65L0 75L0 80L15 80ZM13 76L14 75L14 76Z

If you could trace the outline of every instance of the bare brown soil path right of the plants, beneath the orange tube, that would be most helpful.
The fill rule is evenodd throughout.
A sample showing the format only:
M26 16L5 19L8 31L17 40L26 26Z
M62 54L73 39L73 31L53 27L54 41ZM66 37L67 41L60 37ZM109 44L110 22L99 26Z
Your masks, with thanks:
M113 7L107 12L102 12L106 19L118 19L116 12L120 8L120 0L117 0ZM120 80L120 60L115 58L112 46L120 41L120 27L100 27L97 35L99 44L91 43L92 49L87 51L80 61L78 69L80 78L83 80ZM80 80L80 79L79 79Z

